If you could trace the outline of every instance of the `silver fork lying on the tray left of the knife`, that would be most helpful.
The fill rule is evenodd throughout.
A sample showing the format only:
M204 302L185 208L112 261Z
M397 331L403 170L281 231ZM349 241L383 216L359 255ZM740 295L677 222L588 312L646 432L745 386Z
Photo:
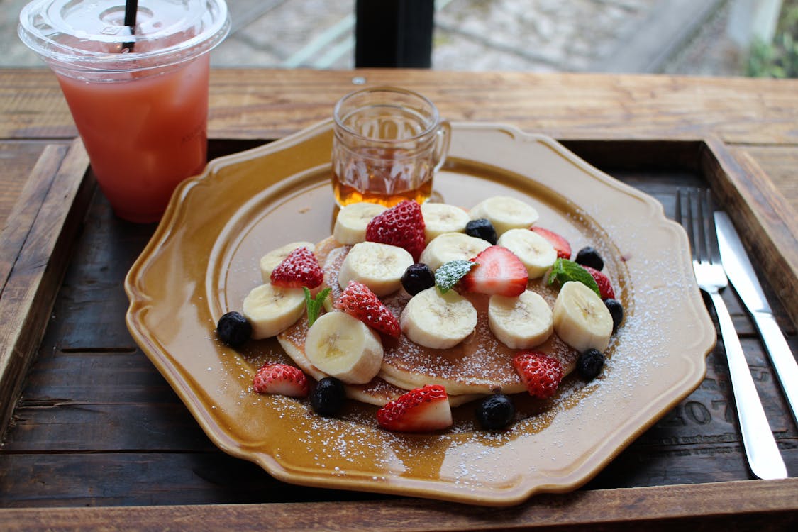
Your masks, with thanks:
M787 467L784 466L784 459L781 458L776 439L773 438L768 418L764 415L740 338L737 337L732 317L729 316L729 309L721 298L720 290L729 284L729 279L726 278L717 248L709 191L688 190L685 195L687 208L685 216L682 216L681 191L676 192L676 221L687 231L698 287L709 295L715 307L749 467L760 479L785 479Z

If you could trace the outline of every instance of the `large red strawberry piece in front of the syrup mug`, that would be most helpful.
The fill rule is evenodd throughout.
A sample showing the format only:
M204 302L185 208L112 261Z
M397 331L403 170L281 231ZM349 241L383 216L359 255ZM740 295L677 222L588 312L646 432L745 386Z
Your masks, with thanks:
M365 227L365 239L403 247L418 262L426 242L424 227L421 206L406 199L375 216Z

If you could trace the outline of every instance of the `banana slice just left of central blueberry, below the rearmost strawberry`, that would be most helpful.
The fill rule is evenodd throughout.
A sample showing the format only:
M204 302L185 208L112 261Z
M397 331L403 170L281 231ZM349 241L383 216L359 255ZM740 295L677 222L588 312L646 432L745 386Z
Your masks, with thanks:
M346 255L338 271L338 286L346 288L350 281L362 282L380 298L399 290L401 276L411 264L413 256L401 247L360 242Z

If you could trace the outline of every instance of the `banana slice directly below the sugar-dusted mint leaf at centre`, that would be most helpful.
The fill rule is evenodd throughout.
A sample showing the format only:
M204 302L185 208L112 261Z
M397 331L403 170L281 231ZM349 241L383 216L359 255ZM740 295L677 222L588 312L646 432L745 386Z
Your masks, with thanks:
M399 323L411 341L430 349L448 349L473 332L476 309L454 290L440 294L433 286L408 301Z

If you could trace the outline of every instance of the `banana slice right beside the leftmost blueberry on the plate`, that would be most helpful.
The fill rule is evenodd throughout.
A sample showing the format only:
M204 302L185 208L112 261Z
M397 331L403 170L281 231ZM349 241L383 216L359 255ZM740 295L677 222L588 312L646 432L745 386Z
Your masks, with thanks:
M302 317L305 292L270 284L256 286L244 298L242 310L252 325L253 338L273 337Z

